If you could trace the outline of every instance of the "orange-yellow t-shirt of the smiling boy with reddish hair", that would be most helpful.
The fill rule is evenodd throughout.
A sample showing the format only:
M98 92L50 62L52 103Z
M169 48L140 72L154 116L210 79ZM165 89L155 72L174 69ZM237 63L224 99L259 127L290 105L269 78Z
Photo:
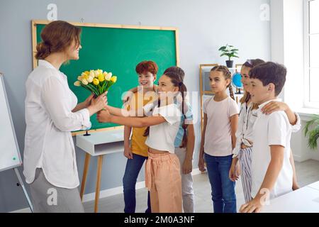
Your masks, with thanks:
M142 92L135 92L130 100L130 104L128 104L128 110L130 109L142 109L142 106L149 104L152 102L152 96L144 96ZM142 114L142 111L141 113ZM142 115L141 115L142 116ZM132 137L131 137L131 145L130 149L132 153L135 155L142 155L147 157L148 147L145 145L146 137L144 136L144 132L147 127L144 128L132 128Z

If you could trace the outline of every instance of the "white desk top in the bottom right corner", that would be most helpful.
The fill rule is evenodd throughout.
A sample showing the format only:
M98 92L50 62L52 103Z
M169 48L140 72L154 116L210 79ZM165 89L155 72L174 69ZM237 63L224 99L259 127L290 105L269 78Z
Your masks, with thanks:
M262 213L319 213L319 182L269 201Z

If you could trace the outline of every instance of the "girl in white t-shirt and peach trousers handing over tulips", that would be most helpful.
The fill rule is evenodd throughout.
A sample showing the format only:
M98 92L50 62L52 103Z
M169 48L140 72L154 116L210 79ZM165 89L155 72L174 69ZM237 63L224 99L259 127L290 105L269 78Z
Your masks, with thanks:
M181 92L184 105L186 86L181 76L166 72L159 78L157 104L144 107L144 118L130 117L125 109L106 106L106 111L98 114L99 122L118 123L124 126L148 127L145 144L149 146L145 166L145 184L150 191L152 213L181 212L181 175L177 155L174 154L174 140L179 130L181 113L174 98ZM155 99L153 99L155 100ZM184 112L184 108L181 108ZM111 114L110 114L111 113Z

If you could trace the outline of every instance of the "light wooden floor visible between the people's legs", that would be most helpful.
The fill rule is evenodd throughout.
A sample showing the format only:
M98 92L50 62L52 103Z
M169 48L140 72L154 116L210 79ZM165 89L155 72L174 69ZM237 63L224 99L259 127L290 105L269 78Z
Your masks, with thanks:
M306 162L296 162L296 172L298 183L301 187L319 180L319 162L308 160ZM198 213L213 212L211 201L211 185L208 182L207 173L194 175L194 193L195 193L195 211ZM244 203L244 195L242 193L242 183L240 179L236 182L237 210ZM139 189L136 191L136 212L142 213L146 209L147 189ZM94 211L94 201L84 204L86 212ZM109 196L99 201L99 212L103 213L123 213L124 200L123 194Z

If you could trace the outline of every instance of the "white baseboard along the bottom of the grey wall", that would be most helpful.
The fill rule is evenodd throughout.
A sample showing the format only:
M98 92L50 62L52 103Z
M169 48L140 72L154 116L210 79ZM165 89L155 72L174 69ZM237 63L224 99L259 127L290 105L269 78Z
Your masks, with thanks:
M191 175L199 175L201 174L201 171L197 169L194 169L192 172L191 172ZM142 181L142 182L137 182L136 183L136 187L135 189L143 189L145 188L145 181ZM103 199L103 198L106 198L108 196L114 196L116 194L121 194L123 193L123 186L120 186L120 187L113 187L111 189L105 189L103 191L100 192L100 199ZM84 194L83 196L83 202L88 202L88 201L94 201L95 199L95 192L93 193L89 193L89 194ZM16 210L16 211L11 211L10 213L31 213L31 210L30 208L24 208L24 209L19 209L19 210Z

